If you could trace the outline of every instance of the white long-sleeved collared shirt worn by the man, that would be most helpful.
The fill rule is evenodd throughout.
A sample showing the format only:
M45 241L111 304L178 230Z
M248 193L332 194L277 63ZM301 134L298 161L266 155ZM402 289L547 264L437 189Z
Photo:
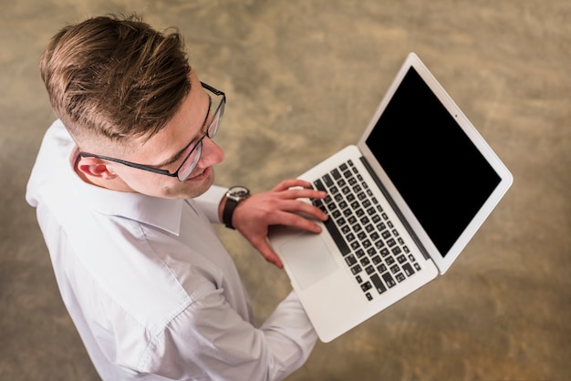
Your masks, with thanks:
M260 328L211 222L225 189L194 200L79 179L75 144L48 130L27 186L57 284L104 380L276 380L317 335L294 293Z

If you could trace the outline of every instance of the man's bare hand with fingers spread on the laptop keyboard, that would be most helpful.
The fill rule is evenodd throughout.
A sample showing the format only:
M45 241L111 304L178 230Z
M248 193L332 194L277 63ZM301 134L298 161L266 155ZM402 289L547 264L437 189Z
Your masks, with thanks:
M301 188L299 188L301 187ZM303 180L284 180L273 190L256 193L240 202L234 210L234 228L262 253L265 260L278 268L284 265L266 240L268 227L287 225L321 232L321 228L308 218L326 221L327 214L315 206L298 199L323 199L327 193L309 189L311 184ZM303 213L306 217L298 213Z

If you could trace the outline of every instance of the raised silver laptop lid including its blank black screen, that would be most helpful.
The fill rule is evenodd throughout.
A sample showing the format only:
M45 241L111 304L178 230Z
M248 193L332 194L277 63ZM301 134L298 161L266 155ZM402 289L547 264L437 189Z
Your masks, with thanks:
M420 248L445 273L512 174L420 58L406 58L358 142Z

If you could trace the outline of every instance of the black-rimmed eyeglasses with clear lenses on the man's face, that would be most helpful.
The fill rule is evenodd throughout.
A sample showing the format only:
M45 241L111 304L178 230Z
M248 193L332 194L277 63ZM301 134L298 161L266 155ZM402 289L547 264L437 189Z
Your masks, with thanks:
M109 158L108 156L94 155L94 154L88 153L88 152L79 152L79 156L81 156L82 158L97 158L97 159L101 159L101 160L114 161L114 162L117 162L119 164L123 164L123 165L126 165L128 167L131 167L131 168L136 168L137 170L147 170L149 172L157 173L160 175L165 175L165 176L169 176L169 177L176 177L181 182L188 179L188 177L192 173L192 170L194 170L194 167L196 167L198 160L200 160L200 158L201 158L202 140L206 137L208 137L209 139L213 139L214 135L216 135L216 132L218 132L218 128L220 127L220 121L221 121L223 114L224 114L224 108L226 106L226 95L223 93L223 91L217 90L216 88L213 88L212 86L207 85L203 82L201 82L201 85L202 85L202 88L207 89L208 91L213 93L216 97L221 97L220 103L218 104L218 106L214 110L213 118L206 124L206 126L207 126L206 131L202 135L201 139L198 139L198 141L196 143L193 143L193 144L191 142L187 146L186 149L190 149L189 153L186 155L186 158L184 158L184 160L182 161L182 164L178 168L178 170L174 171L173 173L171 173L168 170L160 170L158 168L152 168L152 167L149 167L146 165L137 164L137 163L133 163L133 162L126 161L126 160ZM212 97L211 97L211 99L212 99Z

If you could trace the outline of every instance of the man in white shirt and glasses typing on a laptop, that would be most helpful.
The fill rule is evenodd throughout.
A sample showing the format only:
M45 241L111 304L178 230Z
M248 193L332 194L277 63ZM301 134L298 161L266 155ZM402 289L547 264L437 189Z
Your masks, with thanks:
M211 222L234 227L281 267L268 226L319 232L324 198L300 180L263 193L213 186L225 95L202 84L181 36L104 16L54 36L40 71L58 120L26 200L67 310L105 380L274 380L317 340L290 293L254 327Z

